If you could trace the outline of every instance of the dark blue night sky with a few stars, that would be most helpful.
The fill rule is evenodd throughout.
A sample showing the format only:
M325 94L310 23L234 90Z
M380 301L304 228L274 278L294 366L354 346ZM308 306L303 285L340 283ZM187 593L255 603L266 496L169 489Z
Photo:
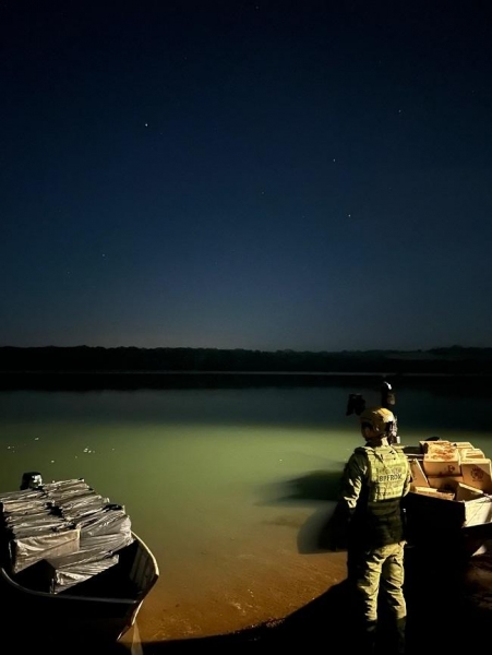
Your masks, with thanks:
M0 345L492 346L491 34L473 1L3 0Z

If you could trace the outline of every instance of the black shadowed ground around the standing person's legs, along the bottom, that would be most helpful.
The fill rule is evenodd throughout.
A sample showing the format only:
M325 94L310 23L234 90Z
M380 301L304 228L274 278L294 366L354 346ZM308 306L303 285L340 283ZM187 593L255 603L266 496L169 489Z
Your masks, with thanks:
M490 555L483 556L481 561L472 558L470 563L452 552L430 557L422 550L407 550L408 655L435 655L447 647L465 653L488 643L492 606L481 604L480 599L485 595L490 600L491 591L487 585L479 590L470 584L472 569L488 570L492 581ZM340 648L357 652L352 607L345 581L276 623L207 639L142 644L142 652L145 655L199 653L206 648L240 653L280 648L301 652L314 644L328 654L339 653ZM379 652L389 655L384 644Z

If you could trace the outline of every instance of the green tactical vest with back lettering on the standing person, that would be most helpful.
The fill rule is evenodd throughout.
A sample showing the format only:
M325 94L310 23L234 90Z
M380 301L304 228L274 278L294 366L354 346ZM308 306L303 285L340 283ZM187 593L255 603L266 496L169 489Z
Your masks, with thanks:
M356 510L356 524L367 547L380 547L404 539L401 496L408 476L404 452L391 445L360 446L368 458L369 473L361 503Z

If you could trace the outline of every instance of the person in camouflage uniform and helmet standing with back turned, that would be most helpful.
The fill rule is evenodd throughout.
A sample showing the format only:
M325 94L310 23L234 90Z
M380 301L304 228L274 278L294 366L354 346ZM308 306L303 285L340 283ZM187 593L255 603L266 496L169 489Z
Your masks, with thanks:
M410 467L401 449L391 444L395 425L385 407L360 414L365 445L346 464L335 512L334 534L346 534L348 581L360 609L364 655L375 652L379 604L387 615L391 652L405 652L401 498L410 488Z

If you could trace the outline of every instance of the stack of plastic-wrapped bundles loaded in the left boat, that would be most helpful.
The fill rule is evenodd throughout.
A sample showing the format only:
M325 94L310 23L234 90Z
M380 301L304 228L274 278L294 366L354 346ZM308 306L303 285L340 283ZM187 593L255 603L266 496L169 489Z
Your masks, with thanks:
M133 541L124 508L84 479L0 495L0 507L12 573L43 562L43 577L55 594L110 569L118 551Z

